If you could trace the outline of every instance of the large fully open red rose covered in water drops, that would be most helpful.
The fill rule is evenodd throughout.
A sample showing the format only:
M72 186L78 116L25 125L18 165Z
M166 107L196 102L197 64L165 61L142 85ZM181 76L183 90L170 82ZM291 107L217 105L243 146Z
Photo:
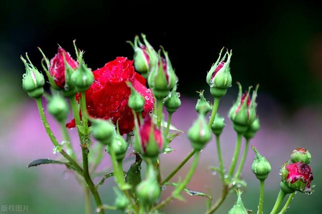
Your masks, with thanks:
M125 57L117 57L93 74L94 82L86 91L87 110L91 117L111 119L114 124L118 122L120 134L131 132L134 118L127 104L131 94L127 81L131 82L135 90L145 98L143 118L153 110L152 92L145 87L145 79L134 71L133 61ZM78 96L76 95L76 99ZM74 126L74 121L67 124L68 128Z

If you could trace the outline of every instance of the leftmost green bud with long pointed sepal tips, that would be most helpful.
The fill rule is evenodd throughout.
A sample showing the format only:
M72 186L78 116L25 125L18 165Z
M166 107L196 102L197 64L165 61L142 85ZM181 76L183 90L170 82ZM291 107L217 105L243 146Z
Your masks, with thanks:
M26 53L27 61L21 56L21 60L25 64L26 73L23 75L22 87L27 91L28 95L32 98L39 98L44 93L45 78L31 63Z

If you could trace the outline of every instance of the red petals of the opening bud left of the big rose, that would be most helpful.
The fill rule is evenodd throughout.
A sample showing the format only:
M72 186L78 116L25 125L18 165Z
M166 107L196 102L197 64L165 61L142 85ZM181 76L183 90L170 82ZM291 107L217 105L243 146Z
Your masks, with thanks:
M74 61L68 52L63 48L59 47L57 54L50 60L49 73L50 76L54 78L56 85L60 88L65 86L65 62L64 56L68 65L75 69L78 66L78 63Z

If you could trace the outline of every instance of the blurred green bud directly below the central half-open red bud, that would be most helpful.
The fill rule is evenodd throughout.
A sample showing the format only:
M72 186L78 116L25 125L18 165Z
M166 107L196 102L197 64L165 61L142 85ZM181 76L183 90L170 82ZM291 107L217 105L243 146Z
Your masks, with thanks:
M161 189L157 183L156 173L151 164L148 166L148 175L145 180L141 181L136 187L136 195L139 201L144 205L151 205L158 201Z

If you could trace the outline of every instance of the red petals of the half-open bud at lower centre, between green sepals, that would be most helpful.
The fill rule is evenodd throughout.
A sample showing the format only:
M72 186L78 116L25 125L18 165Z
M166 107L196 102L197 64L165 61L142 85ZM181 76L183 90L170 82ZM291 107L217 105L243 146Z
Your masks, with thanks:
M151 128L153 129L154 141L156 145L158 146L159 150L162 150L163 148L163 138L162 138L161 131L156 128L155 124L153 124L152 126L152 119L150 116L148 116L146 117L142 126L140 126L140 129L139 129L140 138L141 138L141 148L143 152L145 152L145 149L150 142L149 139L151 134Z

